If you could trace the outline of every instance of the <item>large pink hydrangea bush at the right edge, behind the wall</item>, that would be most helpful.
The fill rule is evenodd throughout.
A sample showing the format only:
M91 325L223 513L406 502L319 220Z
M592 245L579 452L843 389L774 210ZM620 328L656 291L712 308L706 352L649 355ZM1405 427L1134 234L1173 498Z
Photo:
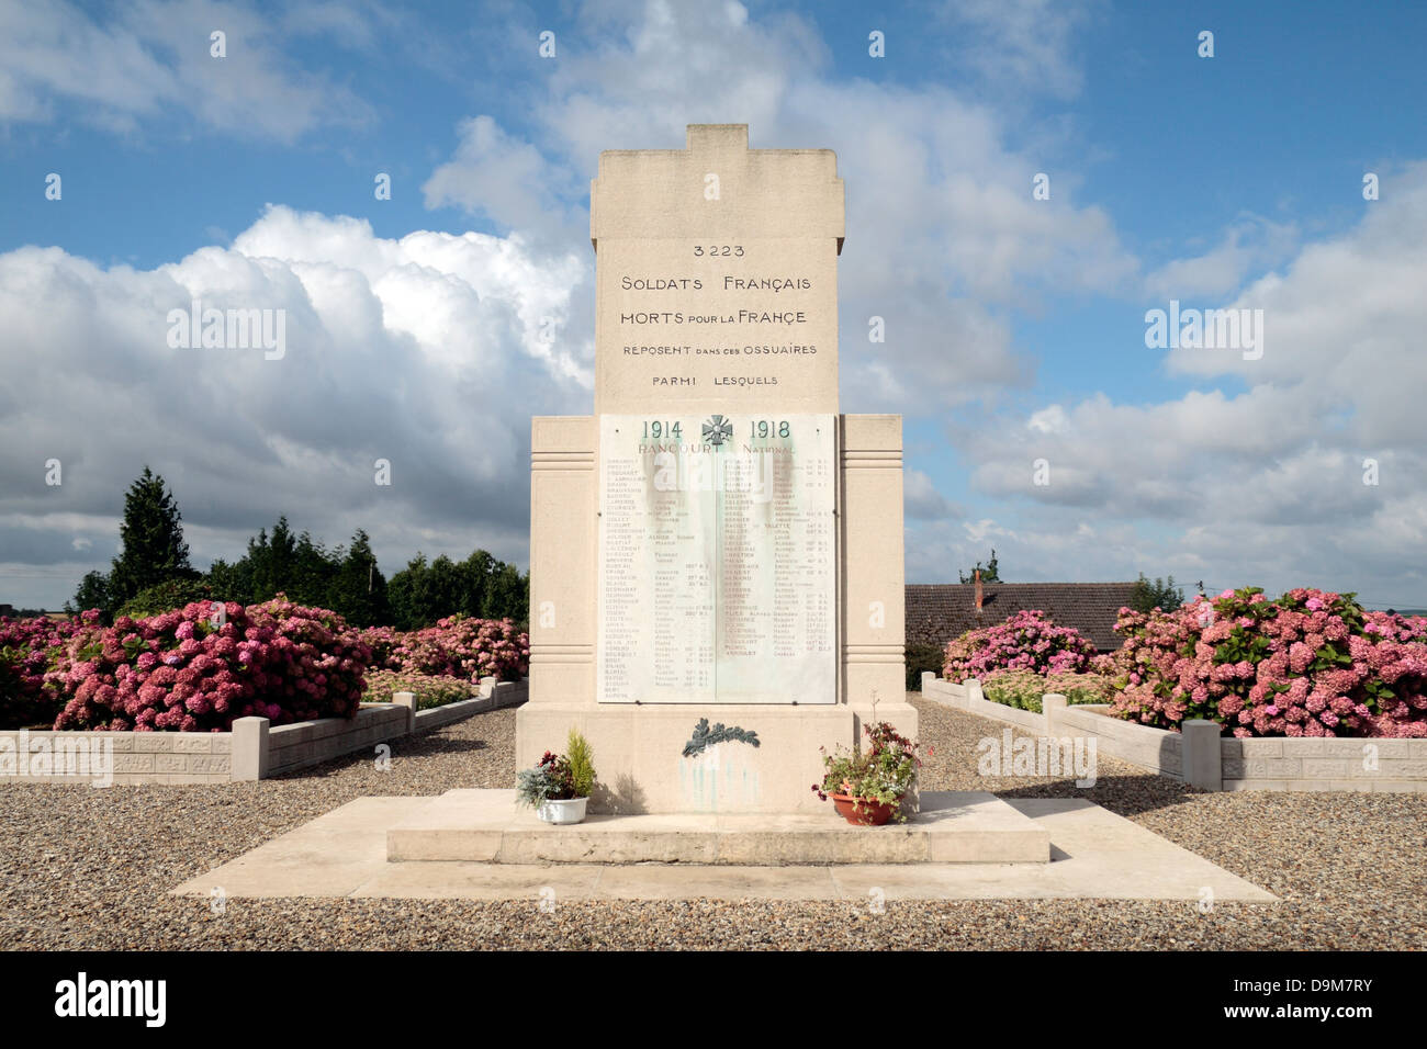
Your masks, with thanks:
M1114 712L1159 728L1207 718L1247 736L1427 736L1427 618L1353 597L1257 587L1174 612L1120 609Z

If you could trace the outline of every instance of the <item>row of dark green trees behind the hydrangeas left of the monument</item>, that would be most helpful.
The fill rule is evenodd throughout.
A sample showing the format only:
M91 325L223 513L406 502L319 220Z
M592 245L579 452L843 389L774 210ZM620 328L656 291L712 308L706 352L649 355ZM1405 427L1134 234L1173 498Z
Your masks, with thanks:
M207 572L188 561L183 514L163 477L144 467L124 497L120 554L108 572L91 571L66 611L100 609L116 615L153 615L190 601L237 601L251 605L287 594L304 605L331 608L357 627L420 629L448 615L529 618L529 574L484 549L464 561L417 554L387 579L361 528L348 544L327 548L307 531L293 531L278 517L260 528L241 558L223 558Z

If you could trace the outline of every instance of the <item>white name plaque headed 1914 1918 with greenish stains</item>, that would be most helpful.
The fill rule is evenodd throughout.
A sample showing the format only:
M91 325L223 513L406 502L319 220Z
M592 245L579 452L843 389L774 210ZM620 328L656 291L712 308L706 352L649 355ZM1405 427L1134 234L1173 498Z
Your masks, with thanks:
M601 702L835 702L835 425L601 417Z

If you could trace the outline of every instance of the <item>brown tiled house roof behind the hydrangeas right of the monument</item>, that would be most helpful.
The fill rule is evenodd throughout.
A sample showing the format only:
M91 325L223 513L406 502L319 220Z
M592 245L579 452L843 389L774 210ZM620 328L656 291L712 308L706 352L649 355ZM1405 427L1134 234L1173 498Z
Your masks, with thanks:
M1102 652L1113 652L1123 638L1114 632L1120 608L1130 604L1134 582L987 582L976 612L970 582L908 584L906 644L945 645L969 629L993 627L1007 617L1036 608L1060 627L1075 627Z

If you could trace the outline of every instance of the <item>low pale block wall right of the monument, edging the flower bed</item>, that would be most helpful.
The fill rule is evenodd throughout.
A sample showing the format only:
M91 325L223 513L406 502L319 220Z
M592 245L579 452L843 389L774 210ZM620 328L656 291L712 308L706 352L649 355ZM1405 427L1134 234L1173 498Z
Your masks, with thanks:
M1106 716L1104 705L1067 706L1042 698L1030 714L983 698L975 678L960 685L922 675L922 695L959 711L1055 738L1093 738L1096 752L1204 791L1398 791L1427 794L1427 739L1236 739L1213 721L1180 732Z

